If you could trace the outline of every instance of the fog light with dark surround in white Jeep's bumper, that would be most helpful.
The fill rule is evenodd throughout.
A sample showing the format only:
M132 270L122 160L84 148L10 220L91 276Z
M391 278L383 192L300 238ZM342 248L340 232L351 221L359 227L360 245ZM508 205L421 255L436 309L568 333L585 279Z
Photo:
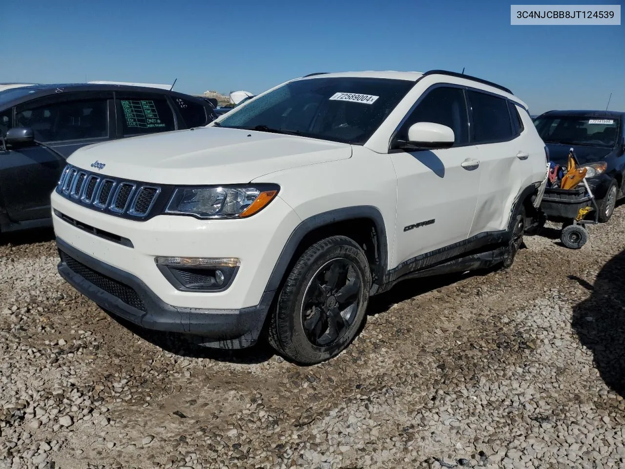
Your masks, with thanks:
M169 283L182 291L226 290L241 264L237 258L157 257L154 261Z

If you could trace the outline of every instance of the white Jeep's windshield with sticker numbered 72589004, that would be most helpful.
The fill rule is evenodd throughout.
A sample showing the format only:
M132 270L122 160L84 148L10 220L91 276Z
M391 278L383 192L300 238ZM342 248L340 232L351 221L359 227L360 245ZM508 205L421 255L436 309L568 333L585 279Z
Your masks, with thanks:
M219 124L362 145L412 86L398 79L302 79L246 103Z

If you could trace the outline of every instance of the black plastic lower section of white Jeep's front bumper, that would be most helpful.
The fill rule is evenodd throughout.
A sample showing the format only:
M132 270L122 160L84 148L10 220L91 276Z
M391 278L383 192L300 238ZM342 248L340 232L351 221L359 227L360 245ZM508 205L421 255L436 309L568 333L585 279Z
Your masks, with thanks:
M143 281L56 240L64 280L105 310L146 329L201 335L205 345L244 348L256 343L271 294L240 310L181 308L164 303Z

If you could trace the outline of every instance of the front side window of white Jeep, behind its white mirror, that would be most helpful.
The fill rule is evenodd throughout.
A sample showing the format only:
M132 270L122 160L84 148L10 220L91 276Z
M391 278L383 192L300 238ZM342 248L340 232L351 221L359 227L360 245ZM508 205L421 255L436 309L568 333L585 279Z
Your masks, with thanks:
M429 91L401 126L397 138L406 140L408 128L417 122L432 122L451 128L454 146L468 143L469 121L462 89L439 86Z

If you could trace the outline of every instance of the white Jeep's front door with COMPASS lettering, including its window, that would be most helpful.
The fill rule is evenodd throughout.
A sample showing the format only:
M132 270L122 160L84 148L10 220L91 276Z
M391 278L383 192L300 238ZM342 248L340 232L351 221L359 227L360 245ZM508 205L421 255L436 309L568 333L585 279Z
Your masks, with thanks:
M393 265L467 239L479 194L479 158L468 145L469 124L462 88L434 86L399 129L407 139L417 122L449 126L454 146L432 151L392 150L397 174L397 224ZM443 249L439 260L446 256Z

